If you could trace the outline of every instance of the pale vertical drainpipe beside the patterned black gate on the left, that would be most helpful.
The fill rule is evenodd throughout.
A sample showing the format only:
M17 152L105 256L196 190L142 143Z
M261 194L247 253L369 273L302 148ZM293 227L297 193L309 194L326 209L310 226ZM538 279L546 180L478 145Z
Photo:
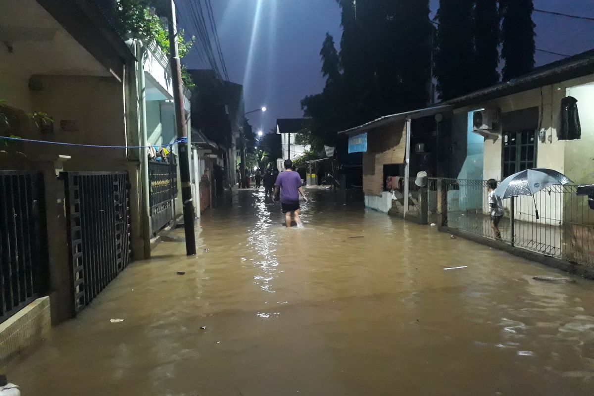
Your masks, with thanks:
M146 106L146 82L144 81L144 56L143 43L140 40L135 42L136 75L138 77L138 107L140 114L140 145L149 145L147 138L147 106ZM140 149L140 175L143 184L143 239L144 239L144 258L149 259L151 254L151 224L150 224L150 196L149 196L149 156L146 150Z

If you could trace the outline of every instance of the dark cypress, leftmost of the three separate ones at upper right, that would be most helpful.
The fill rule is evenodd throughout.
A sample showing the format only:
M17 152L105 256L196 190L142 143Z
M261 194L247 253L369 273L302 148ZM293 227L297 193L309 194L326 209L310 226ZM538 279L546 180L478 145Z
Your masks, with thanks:
M512 0L516 1L516 0ZM440 0L435 77L443 100L473 90L475 61L473 0Z

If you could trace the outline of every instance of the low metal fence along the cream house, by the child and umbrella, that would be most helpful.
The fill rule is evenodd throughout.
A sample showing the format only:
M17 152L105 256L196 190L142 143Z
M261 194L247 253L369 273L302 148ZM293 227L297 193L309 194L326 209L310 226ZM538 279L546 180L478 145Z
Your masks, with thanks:
M444 226L495 239L484 180L443 179ZM555 185L534 197L504 199L501 240L555 258L594 266L594 210L575 185ZM536 216L538 210L539 216Z

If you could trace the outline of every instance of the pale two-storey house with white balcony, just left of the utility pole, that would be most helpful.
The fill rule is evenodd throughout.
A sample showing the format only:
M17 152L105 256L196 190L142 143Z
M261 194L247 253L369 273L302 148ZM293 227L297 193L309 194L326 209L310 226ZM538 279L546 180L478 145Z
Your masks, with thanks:
M169 59L155 42L131 39L127 45L137 60L137 91L132 94L138 109L138 146L153 146L137 161L147 204L143 207L143 241L150 241L182 214L181 185L175 141L175 107ZM191 130L190 97L184 93L185 123ZM189 139L191 141L191 138ZM170 151L165 154L165 150ZM150 243L144 243L144 256L150 256Z

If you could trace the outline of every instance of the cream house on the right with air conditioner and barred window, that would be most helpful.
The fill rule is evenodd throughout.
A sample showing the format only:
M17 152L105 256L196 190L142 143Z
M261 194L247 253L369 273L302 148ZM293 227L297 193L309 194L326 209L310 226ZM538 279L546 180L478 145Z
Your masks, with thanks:
M580 135L567 136L561 130L562 102L567 98L577 100ZM473 178L503 180L521 170L548 168L574 183L554 186L534 197L506 199L504 239L555 258L594 264L594 211L588 207L587 197L576 194L577 185L594 184L594 117L590 111L594 106L594 50L448 104L453 118L460 120L453 123L452 135L473 134L472 139L478 141L472 152L472 163L478 165ZM465 120L467 125L463 125ZM464 157L455 151L454 156ZM467 165L469 159L466 156ZM463 177L461 172L459 179ZM460 201L448 202L454 204L448 207L448 223L492 236L481 224L486 213L484 189L476 191L466 182L459 185ZM465 196L475 198L462 199ZM476 217L469 216L472 212Z

